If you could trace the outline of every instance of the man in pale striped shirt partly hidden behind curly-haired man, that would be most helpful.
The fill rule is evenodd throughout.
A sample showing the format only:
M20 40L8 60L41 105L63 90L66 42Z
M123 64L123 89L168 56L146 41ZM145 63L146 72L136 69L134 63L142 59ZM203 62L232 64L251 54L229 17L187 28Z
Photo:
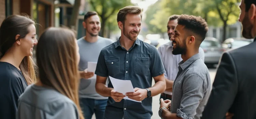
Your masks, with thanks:
M171 37L174 35L174 29L177 26L177 19L180 17L180 15L171 15L169 17L169 21L167 23L167 34L169 36L169 40L171 40ZM158 48L158 52L161 56L163 66L165 67L166 73L166 90L165 92L161 93L160 99L163 100L172 100L172 86L173 82L177 76L178 73L178 67L179 62L182 61L181 55L173 55L172 54L172 41L170 41L167 44L161 45ZM204 62L204 51L201 47L199 47L199 54L200 58ZM159 100L160 100L159 99Z

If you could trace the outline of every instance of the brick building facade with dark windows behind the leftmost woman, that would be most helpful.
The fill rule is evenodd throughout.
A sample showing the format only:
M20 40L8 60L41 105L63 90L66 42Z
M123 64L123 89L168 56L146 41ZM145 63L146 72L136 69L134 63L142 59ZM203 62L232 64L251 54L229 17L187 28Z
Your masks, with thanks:
M36 23L37 36L54 26L54 0L0 0L0 23L10 15L26 13Z

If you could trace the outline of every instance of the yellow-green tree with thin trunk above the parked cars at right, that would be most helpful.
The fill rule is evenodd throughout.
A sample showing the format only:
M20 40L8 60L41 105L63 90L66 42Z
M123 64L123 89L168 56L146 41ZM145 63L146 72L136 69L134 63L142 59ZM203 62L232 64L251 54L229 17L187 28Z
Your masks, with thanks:
M239 16L239 8L237 4L239 0L214 0L215 12L223 22L223 38L226 39L226 28L228 24L235 23Z

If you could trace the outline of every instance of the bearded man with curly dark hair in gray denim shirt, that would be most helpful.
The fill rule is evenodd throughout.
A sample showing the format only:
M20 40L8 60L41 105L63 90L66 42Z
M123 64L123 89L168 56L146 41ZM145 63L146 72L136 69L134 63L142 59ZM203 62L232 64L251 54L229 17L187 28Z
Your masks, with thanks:
M208 31L202 17L181 15L172 36L174 55L181 54L179 71L173 83L172 101L161 99L163 119L200 119L211 91L208 68L200 59L199 46ZM171 104L170 110L168 108Z

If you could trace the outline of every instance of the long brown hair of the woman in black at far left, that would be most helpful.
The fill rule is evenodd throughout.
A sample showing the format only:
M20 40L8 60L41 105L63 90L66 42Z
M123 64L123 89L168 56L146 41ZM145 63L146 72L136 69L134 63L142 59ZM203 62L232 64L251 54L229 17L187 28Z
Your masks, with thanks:
M35 22L29 16L12 15L3 20L0 27L0 58L13 46L16 35L24 38L28 33L28 27ZM32 56L25 56L19 65L27 82L31 84L37 80Z

